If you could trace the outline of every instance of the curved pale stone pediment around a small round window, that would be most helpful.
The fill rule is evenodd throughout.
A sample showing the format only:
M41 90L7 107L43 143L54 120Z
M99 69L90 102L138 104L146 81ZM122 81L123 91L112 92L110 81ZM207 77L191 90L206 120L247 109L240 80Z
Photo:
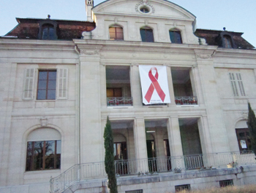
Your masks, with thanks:
M151 9L149 13L140 12L140 7ZM108 0L92 9L95 15L130 15L134 17L164 17L177 20L195 20L195 15L186 9L165 0Z

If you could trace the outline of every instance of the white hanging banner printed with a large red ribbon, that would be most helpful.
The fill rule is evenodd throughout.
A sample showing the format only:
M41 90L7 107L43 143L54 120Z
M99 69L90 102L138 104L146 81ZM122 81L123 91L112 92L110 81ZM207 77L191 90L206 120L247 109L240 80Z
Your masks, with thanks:
M170 103L166 66L139 66L143 103Z

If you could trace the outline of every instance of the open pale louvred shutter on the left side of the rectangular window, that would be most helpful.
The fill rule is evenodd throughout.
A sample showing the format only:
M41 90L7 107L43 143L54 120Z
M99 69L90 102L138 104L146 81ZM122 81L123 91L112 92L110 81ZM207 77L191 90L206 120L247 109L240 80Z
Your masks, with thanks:
M23 100L33 100L34 96L34 68L26 68L24 73Z

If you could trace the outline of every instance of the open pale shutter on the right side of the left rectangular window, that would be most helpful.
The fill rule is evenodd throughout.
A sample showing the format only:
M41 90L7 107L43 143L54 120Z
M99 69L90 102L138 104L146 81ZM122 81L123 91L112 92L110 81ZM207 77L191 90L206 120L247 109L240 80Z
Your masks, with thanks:
M57 99L67 99L67 79L68 79L68 69L59 68L58 69L58 84L57 84Z

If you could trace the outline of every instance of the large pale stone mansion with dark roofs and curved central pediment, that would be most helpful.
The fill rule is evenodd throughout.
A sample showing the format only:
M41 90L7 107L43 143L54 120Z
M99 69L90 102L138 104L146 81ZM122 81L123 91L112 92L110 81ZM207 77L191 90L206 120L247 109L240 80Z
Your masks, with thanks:
M0 192L108 192L107 117L118 192L256 184L256 51L242 33L195 29L164 0L86 0L86 12L17 18L0 39ZM152 98L166 76L170 103L143 103L144 67L165 68Z

